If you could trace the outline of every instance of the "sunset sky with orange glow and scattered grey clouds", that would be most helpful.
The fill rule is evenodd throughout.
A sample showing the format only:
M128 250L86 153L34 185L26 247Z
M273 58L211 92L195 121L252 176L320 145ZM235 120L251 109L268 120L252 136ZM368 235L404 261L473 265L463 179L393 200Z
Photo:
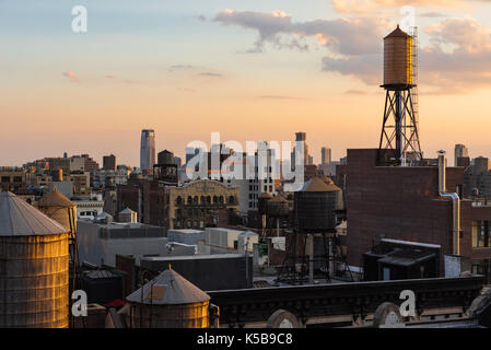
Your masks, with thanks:
M211 132L245 149L304 131L316 163L322 147L376 148L398 23L419 31L424 155L491 158L491 1L0 0L0 165L68 152L138 166L144 128L183 158Z

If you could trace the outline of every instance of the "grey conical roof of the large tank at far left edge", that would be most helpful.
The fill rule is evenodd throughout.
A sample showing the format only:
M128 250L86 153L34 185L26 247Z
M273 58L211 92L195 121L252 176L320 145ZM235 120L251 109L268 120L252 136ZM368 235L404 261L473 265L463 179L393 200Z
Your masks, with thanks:
M0 192L0 236L67 233L68 230L12 192Z

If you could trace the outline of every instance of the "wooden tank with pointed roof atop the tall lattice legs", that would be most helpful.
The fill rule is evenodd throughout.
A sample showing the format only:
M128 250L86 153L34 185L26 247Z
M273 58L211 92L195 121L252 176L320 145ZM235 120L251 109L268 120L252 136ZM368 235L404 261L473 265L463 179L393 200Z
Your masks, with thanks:
M412 36L399 26L384 38L384 86L412 85Z

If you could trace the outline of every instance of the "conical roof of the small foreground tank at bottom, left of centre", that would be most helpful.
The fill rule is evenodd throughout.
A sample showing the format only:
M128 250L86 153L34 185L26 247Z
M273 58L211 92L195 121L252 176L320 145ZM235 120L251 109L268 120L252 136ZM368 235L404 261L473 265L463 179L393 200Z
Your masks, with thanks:
M177 305L202 303L209 301L210 295L169 268L129 294L126 300L139 304Z

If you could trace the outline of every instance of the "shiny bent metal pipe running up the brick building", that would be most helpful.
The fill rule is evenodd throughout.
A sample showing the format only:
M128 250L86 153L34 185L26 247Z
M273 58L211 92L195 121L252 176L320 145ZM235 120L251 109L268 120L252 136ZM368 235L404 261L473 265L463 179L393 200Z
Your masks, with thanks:
M445 151L439 151L439 194L440 197L452 199L453 203L452 254L460 255L460 198L456 192L446 191Z

